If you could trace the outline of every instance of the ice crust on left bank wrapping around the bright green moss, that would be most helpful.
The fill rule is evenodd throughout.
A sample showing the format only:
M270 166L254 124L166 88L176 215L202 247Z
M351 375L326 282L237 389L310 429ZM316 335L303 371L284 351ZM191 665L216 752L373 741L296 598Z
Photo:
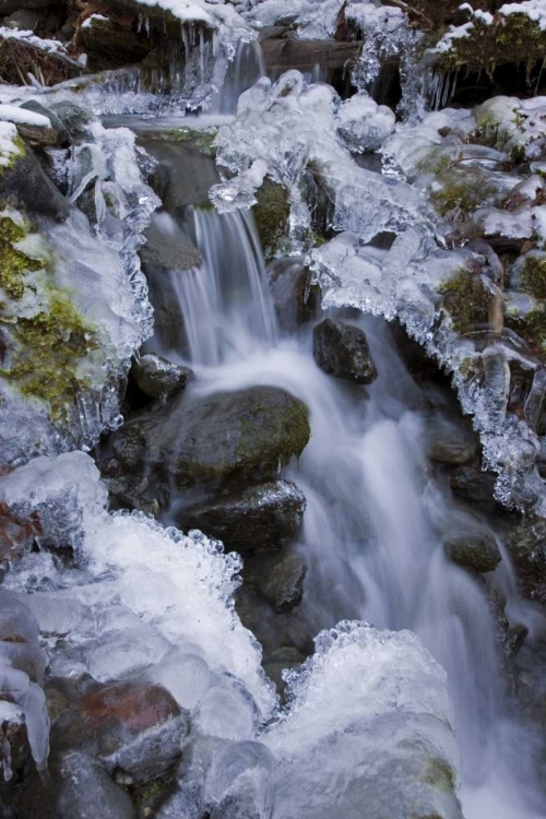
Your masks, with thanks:
M41 96L39 99L47 103ZM36 124L36 117L49 121L40 115L26 117L15 106L2 109L8 109L12 120ZM14 124L1 122L0 128L14 139ZM11 145L5 149L7 161L19 151L13 141ZM62 420L51 420L44 401L23 397L15 385L2 384L5 400L0 406L0 447L4 463L27 460L31 453L92 448L105 429L119 425L118 380L127 373L134 351L153 332L153 312L138 251L159 200L143 179L142 152L135 146L134 134L128 129L106 130L92 121L71 152L49 149L49 155L58 171L57 181L68 188L69 200L80 205L85 194L84 206L92 224L73 207L64 222L41 219L38 230L27 234L20 249L44 260L44 271L32 274L33 287L27 287L24 298L11 300L10 310L16 319L49 309L47 265L55 270L56 287L71 294L95 339L79 365L80 393L73 405L67 406ZM16 211L7 215L21 222Z

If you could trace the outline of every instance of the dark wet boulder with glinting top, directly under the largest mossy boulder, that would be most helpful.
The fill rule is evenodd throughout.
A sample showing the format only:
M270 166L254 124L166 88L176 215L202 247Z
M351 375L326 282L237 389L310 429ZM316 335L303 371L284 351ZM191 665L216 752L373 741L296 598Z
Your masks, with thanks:
M292 480L271 480L228 491L179 513L185 530L199 529L229 549L278 548L299 526L306 499Z

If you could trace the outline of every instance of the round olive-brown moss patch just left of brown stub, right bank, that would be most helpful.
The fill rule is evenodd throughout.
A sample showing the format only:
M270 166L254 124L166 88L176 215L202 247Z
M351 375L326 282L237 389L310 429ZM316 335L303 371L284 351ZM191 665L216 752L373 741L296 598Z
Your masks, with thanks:
M453 328L461 334L472 332L489 318L490 293L482 278L466 268L438 288L442 307L450 313Z

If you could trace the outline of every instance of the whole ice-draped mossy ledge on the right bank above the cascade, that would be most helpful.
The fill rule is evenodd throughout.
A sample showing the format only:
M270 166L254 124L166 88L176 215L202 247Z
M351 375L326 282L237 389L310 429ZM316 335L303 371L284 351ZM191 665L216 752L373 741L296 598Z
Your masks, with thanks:
M323 307L401 319L452 373L498 499L542 513L545 111L544 97L497 97L395 124L365 91L341 102L289 71L241 95L211 191L227 212L251 206L264 179L282 186L281 250L309 251ZM382 173L356 162L373 152ZM339 235L318 247L324 224Z

